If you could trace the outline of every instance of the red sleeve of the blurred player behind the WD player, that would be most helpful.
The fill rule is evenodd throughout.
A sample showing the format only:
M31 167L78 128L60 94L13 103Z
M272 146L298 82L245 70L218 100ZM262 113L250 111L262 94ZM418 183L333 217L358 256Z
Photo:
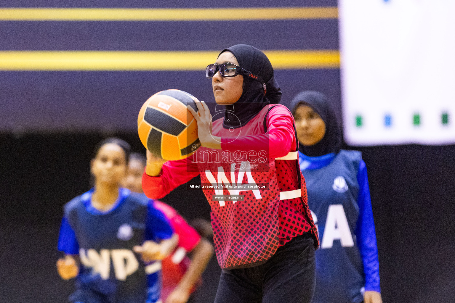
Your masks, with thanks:
M178 235L178 247L185 248L187 252L192 251L201 240L201 236L197 231L170 205L155 200L155 207L161 210L167 219L171 221L172 228Z

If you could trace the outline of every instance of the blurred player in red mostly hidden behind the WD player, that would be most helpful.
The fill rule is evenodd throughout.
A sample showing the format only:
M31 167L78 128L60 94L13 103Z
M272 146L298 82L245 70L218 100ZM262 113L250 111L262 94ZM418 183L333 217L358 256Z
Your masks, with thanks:
M145 155L130 154L128 172L123 186L133 192L143 194L142 174L145 166ZM177 249L171 256L162 260L162 301L165 303L193 302L194 297L191 294L200 284L201 275L212 258L213 245L206 238L201 238L197 231L188 225L171 206L158 200L154 201L154 206L169 219L179 239ZM198 226L203 226L200 220L203 219L197 221ZM210 226L207 221L206 224ZM187 253L191 253L192 259L187 257Z

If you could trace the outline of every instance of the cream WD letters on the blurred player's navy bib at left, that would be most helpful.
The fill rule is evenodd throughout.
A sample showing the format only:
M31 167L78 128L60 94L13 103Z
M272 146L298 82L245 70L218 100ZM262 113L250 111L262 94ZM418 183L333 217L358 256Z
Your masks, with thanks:
M129 249L101 249L98 253L90 248L79 249L81 263L86 267L93 268L93 273L99 273L101 278L107 280L112 265L114 266L115 277L117 280L125 281L126 277L136 272L139 268L136 256Z

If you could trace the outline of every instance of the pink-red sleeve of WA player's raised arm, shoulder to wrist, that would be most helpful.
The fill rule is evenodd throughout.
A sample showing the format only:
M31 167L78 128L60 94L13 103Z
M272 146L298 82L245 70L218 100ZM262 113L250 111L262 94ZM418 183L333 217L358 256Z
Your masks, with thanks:
M286 107L280 105L267 115L267 133L241 136L233 142L229 142L228 137L221 138L222 150L232 153L238 150L268 150L268 158L283 157L295 148L294 117Z

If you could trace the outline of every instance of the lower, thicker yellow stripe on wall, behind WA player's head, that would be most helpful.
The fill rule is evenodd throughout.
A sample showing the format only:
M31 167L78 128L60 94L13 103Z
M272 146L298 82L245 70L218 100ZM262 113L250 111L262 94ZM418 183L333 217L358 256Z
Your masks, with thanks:
M0 70L205 70L218 51L0 51ZM266 50L276 70L339 68L338 50Z

